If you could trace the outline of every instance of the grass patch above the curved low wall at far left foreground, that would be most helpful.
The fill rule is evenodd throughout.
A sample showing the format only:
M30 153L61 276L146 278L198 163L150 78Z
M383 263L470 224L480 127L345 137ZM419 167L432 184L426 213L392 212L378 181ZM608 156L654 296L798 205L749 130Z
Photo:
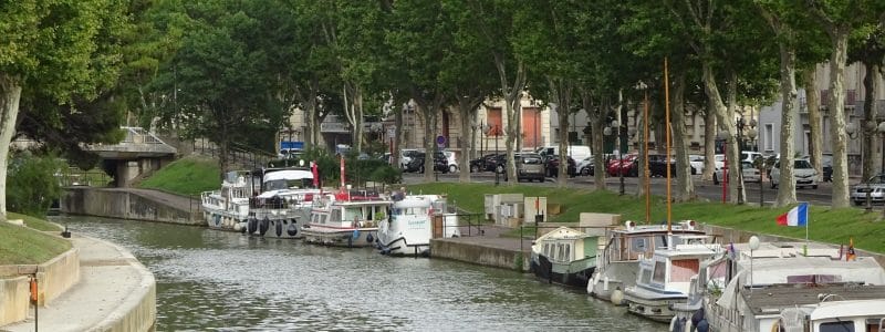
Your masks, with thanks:
M9 212L9 219L23 219L27 227L0 222L0 264L38 264L71 249L71 242L43 231L61 229L46 220Z

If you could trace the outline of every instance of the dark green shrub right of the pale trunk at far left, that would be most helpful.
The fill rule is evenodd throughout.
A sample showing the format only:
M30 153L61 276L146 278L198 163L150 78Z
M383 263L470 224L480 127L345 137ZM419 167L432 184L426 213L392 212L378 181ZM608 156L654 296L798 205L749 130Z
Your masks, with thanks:
M45 217L52 203L61 197L59 170L64 163L52 155L14 152L7 173L7 209Z

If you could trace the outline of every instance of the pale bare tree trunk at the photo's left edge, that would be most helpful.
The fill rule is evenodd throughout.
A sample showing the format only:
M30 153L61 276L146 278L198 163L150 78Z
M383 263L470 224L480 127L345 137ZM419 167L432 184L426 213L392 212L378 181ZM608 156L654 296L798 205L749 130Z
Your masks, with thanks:
M7 220L7 172L9 170L9 144L15 135L19 116L21 85L4 73L0 73L0 221Z

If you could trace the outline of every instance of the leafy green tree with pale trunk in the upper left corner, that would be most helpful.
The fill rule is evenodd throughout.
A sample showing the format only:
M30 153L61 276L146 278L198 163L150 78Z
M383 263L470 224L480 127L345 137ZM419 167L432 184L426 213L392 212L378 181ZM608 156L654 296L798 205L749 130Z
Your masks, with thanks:
M126 6L106 0L0 3L0 218L7 216L9 145L23 92L40 91L58 104L77 95L94 98L97 86L116 79L119 40L105 37L119 33Z

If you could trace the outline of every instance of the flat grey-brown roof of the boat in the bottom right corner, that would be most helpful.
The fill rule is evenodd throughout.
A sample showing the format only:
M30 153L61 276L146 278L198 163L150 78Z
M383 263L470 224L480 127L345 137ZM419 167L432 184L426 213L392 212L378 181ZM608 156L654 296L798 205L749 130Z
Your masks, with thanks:
M792 308L796 305L818 304L821 302L822 297L825 294L837 294L836 299L844 300L874 300L885 302L885 286L861 286L857 283L839 283L839 284L822 284L815 287L798 287L795 284L778 284L766 287L761 289L753 289L752 291L743 291L743 300L747 305L752 310L753 314L778 314L784 308ZM836 302L832 302L836 303ZM821 303L821 308L824 308ZM882 304L882 303L879 303ZM818 310L814 312L816 313ZM885 311L879 310L878 313ZM821 319L824 315L830 317L845 317L847 312L836 311L835 309L823 310L819 313ZM814 314L812 314L813 318Z

